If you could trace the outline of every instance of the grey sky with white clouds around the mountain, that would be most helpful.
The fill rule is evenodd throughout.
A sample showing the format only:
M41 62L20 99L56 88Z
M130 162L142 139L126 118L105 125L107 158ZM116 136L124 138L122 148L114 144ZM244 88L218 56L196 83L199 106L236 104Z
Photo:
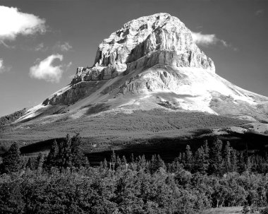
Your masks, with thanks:
M111 32L160 12L185 23L219 76L268 96L267 0L0 0L0 116L38 105Z

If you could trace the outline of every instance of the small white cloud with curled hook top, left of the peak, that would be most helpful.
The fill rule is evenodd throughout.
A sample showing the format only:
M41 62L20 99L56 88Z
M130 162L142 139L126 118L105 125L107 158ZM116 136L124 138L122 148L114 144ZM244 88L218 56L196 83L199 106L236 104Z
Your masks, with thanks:
M43 79L51 83L59 83L62 73L63 65L54 66L52 63L55 59L63 60L63 55L61 54L52 54L46 59L39 62L35 66L30 68L30 77Z

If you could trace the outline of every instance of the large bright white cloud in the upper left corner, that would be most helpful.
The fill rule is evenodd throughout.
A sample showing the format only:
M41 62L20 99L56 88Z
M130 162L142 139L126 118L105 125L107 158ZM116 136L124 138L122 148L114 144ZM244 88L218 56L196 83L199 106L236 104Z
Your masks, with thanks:
M45 20L18 8L0 6L0 40L15 40L18 35L46 32Z

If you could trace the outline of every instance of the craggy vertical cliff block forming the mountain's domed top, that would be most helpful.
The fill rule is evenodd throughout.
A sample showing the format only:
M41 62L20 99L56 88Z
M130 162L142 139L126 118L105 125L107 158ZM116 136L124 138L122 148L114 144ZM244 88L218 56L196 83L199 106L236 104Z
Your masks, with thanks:
M197 67L214 72L214 63L193 42L192 33L167 13L145 16L123 25L97 49L91 68L79 67L72 84L100 81L155 64Z

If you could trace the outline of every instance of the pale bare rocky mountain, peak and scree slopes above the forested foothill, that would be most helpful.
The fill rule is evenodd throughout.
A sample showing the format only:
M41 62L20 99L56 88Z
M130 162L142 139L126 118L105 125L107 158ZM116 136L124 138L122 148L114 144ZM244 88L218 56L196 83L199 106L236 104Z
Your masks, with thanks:
M268 121L267 103L268 97L218 76L181 20L157 13L113 32L99 44L92 67L78 67L70 85L29 109L20 121L155 108Z

